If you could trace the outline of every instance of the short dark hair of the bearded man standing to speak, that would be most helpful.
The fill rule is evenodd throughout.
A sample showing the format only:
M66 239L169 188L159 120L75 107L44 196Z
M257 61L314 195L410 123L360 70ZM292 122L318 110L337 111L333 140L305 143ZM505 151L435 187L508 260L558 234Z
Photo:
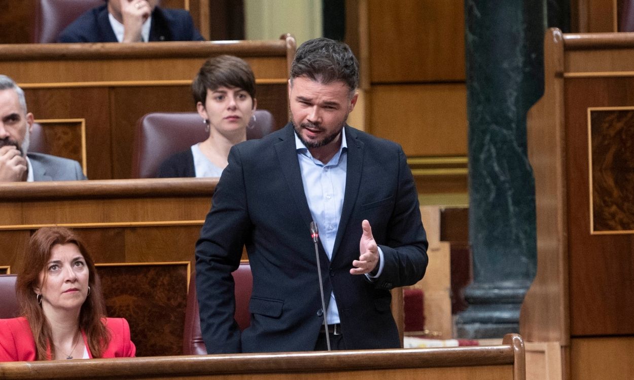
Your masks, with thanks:
M342 81L350 91L359 86L359 62L350 47L325 37L304 42L290 66L290 80L297 77L330 84Z

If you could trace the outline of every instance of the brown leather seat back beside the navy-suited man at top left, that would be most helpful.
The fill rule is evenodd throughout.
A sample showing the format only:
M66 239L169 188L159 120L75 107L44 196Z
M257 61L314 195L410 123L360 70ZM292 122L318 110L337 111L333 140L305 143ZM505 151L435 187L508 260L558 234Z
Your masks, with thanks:
M46 44L88 9L103 4L103 0L37 0L35 30L31 42Z

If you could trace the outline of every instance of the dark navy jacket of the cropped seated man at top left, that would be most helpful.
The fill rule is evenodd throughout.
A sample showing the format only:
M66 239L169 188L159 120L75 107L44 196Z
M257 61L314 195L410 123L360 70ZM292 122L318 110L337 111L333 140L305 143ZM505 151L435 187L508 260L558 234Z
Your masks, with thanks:
M150 41L204 41L188 11L163 9L152 12ZM90 9L66 27L57 42L117 42L108 20L107 4Z

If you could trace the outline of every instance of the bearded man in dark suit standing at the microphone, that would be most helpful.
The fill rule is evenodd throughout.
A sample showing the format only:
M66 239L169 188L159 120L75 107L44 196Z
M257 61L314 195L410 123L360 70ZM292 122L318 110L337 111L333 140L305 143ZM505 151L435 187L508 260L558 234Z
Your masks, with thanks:
M207 352L398 348L390 289L419 281L427 240L398 144L346 125L358 94L346 44L307 41L288 81L292 122L233 146L196 246ZM328 333L310 224L319 227ZM233 319L246 245L250 327Z

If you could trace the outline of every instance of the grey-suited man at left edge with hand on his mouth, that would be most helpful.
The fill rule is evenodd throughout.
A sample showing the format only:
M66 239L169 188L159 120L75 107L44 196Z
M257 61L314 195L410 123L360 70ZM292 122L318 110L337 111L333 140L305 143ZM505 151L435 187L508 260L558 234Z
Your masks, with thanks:
M28 153L33 114L24 91L0 75L0 182L74 181L86 179L77 161Z

